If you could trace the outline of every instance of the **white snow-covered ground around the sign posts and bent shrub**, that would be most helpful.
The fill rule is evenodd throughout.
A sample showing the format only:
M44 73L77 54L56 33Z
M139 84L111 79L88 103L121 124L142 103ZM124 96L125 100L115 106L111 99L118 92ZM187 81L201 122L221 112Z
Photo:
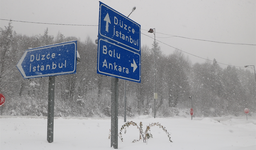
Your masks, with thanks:
M256 117L218 118L128 118L146 125L159 122L171 135L158 126L151 128L153 138L139 140L139 132L130 126L123 132L121 150L256 150ZM220 122L218 122L220 121ZM118 120L118 127L124 124ZM0 150L110 150L110 118L54 118L54 142L48 143L47 119L32 116L0 116ZM118 131L119 132L119 131Z

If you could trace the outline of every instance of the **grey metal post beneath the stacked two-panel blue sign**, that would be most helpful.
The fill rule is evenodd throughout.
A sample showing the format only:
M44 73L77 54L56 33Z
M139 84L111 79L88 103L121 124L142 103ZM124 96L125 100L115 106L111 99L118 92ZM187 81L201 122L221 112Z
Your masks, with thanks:
M111 79L111 147L118 149L118 78Z

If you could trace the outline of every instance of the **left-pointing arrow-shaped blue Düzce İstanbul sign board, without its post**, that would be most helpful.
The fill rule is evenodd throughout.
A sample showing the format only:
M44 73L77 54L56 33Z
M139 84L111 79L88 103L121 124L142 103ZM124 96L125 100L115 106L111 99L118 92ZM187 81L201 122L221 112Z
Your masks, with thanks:
M76 73L77 41L28 49L16 65L23 78Z

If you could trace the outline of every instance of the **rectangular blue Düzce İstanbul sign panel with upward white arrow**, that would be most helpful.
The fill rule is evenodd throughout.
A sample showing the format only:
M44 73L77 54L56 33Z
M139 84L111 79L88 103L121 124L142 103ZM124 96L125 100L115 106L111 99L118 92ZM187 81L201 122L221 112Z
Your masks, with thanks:
M140 24L100 2L99 35L140 52ZM101 38L101 37L100 37Z

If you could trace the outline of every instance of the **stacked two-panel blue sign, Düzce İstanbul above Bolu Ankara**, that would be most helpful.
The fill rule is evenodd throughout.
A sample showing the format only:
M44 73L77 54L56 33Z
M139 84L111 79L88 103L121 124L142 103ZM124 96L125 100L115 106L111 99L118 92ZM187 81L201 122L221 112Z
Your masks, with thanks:
M100 2L97 73L141 82L140 25Z

